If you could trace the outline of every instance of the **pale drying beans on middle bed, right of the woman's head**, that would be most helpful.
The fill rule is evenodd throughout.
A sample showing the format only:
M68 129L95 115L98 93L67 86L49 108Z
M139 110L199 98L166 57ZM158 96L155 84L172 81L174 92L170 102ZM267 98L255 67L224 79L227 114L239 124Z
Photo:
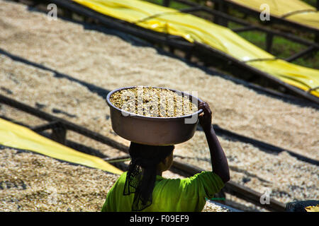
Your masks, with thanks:
M174 152L176 160L211 170L205 134L197 131L188 143ZM234 182L245 185L270 197L287 203L319 198L319 167L297 160L289 153L267 153L246 143L228 141L219 137ZM194 147L191 149L191 147ZM196 155L191 150L196 150Z

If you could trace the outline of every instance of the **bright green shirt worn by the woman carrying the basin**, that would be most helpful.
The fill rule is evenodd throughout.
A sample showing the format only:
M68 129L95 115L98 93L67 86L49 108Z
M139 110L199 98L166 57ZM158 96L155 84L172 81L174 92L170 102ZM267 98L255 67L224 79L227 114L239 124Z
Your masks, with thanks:
M118 178L106 196L102 212L130 212L135 194L123 195L126 173ZM165 179L156 176L152 204L145 212L199 212L205 206L205 198L213 198L224 186L220 177L203 171L184 179Z

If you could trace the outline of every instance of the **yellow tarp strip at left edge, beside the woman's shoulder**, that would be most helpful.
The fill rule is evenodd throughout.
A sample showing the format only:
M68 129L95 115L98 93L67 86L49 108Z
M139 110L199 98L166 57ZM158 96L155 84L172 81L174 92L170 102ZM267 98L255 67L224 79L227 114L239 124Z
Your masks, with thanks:
M40 136L38 133L30 129L13 124L10 121L0 119L0 144L11 148L19 148L23 150L31 150L35 153L47 155L57 160L77 163L87 167L103 169L113 174L122 174L123 172L105 162L99 157L81 153L65 145L57 143Z

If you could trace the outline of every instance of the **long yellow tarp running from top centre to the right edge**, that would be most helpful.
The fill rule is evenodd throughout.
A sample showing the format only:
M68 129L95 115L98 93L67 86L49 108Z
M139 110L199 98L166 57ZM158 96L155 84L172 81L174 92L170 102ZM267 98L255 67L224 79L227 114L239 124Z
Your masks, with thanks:
M232 30L173 8L139 0L73 0L106 16L111 16L142 28L184 37L189 42L208 44L240 61L274 59L272 54L256 47ZM319 71L283 60L247 62L260 71L279 78L302 90L319 86ZM311 91L319 97L319 92Z

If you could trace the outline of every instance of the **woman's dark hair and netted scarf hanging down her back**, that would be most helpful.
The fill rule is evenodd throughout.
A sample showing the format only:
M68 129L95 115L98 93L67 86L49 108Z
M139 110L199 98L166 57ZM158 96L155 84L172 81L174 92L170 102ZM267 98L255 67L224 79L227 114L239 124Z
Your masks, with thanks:
M140 211L152 204L157 165L169 156L174 145L155 146L130 143L131 157L123 195L135 194L132 211Z

